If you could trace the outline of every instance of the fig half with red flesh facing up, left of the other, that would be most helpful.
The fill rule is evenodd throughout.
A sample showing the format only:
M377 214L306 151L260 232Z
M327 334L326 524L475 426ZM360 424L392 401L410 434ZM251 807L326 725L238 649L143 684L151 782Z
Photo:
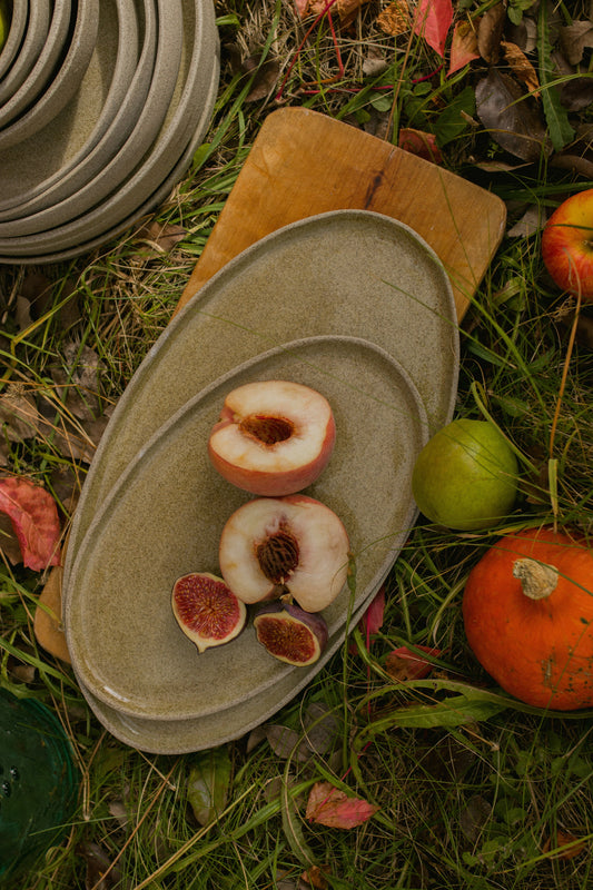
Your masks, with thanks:
M244 629L247 609L221 577L190 572L177 578L172 612L185 635L205 652L234 640Z

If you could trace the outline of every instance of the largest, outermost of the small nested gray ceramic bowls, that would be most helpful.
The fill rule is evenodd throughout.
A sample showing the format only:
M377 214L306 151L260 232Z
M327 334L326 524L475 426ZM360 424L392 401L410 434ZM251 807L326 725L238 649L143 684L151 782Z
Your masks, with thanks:
M68 16L66 17L66 7ZM68 18L70 22L70 3L56 0L53 16ZM62 19L59 19L62 21ZM59 70L56 72L31 108L18 117L12 123L0 130L0 150L17 145L32 134L38 132L72 98L80 86L89 65L99 23L99 0L78 0L77 16L68 49ZM52 19L53 24L53 19Z

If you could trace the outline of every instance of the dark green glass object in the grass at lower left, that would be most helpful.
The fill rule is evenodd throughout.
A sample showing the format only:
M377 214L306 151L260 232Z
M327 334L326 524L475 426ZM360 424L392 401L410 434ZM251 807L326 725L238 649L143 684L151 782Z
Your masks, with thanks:
M67 834L79 780L52 712L0 689L0 887Z

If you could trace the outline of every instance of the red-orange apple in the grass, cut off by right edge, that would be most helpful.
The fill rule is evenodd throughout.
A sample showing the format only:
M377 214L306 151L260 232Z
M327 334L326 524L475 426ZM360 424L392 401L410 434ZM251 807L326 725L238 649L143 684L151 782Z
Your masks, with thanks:
M554 210L542 233L542 257L559 287L593 300L593 188Z

